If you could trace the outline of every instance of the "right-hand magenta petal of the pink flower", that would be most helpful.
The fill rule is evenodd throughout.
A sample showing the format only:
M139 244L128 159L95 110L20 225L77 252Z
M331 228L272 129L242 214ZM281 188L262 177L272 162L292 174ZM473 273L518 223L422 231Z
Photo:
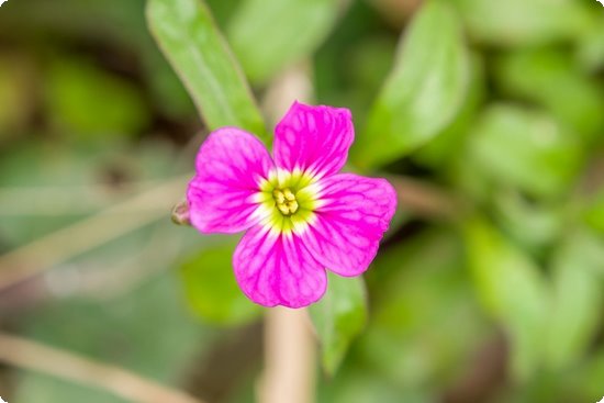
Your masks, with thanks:
M376 257L396 209L396 194L385 179L353 173L320 181L316 220L302 235L313 256L337 275L358 276Z

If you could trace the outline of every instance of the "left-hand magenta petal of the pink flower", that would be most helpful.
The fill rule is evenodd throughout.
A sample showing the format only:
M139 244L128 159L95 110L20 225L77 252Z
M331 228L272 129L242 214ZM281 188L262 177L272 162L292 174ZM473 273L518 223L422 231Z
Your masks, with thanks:
M237 233L261 216L255 200L259 182L275 165L262 143L234 127L214 131L197 156L187 199L191 224L203 233Z

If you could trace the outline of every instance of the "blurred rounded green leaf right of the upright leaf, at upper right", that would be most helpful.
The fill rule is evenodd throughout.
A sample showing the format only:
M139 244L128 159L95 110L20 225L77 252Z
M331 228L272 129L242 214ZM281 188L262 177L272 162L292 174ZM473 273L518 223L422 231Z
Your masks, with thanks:
M548 114L495 104L471 133L472 160L492 178L534 197L568 190L582 164L579 138Z

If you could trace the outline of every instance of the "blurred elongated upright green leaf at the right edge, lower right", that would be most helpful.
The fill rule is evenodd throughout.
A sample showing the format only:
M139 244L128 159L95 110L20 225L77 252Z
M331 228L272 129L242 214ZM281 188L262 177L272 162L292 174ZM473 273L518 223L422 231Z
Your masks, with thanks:
M600 259L594 258L595 250L600 250ZM602 250L593 234L575 231L556 254L553 309L547 339L548 363L555 369L578 362L594 340L602 317Z

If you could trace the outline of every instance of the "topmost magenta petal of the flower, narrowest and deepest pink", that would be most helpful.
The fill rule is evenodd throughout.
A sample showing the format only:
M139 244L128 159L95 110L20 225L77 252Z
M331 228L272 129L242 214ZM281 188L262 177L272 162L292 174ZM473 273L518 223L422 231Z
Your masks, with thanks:
M353 116L344 108L294 102L275 128L275 163L321 178L337 173L355 138Z

